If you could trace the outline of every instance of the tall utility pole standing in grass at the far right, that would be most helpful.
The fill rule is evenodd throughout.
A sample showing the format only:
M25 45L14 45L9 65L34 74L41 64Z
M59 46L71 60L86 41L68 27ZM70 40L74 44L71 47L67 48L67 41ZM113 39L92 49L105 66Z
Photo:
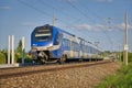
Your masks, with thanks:
M128 12L125 13L124 64L128 66Z

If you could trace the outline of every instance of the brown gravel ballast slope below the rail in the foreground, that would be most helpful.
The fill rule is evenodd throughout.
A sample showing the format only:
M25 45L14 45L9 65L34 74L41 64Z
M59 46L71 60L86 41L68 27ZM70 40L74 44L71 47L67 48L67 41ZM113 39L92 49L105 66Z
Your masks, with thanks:
M106 76L116 74L119 63L32 74L0 79L0 88L94 88Z

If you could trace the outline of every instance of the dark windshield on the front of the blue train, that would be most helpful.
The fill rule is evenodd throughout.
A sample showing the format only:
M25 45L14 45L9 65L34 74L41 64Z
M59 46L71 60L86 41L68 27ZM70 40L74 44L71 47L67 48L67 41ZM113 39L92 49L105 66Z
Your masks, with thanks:
M36 29L34 32L34 41L44 42L52 40L52 30L51 29Z

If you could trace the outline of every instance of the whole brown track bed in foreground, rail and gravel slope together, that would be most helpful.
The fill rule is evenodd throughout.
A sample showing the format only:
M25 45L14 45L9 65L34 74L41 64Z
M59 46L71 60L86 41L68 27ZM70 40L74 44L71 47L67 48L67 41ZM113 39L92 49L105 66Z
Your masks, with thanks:
M0 86L2 88L92 88L119 68L120 65L116 62L100 61L6 69L0 73Z

